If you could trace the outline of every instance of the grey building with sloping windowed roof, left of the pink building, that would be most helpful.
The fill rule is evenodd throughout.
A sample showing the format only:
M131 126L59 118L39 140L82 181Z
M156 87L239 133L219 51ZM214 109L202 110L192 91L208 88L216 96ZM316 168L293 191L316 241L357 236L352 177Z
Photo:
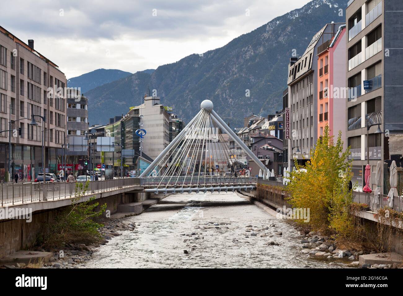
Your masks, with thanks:
M288 166L294 159L305 164L310 159L310 149L318 138L318 48L332 39L338 23L326 24L314 35L302 56L292 57L288 67L289 122L286 122ZM322 46L324 47L324 46ZM287 118L286 118L287 119Z

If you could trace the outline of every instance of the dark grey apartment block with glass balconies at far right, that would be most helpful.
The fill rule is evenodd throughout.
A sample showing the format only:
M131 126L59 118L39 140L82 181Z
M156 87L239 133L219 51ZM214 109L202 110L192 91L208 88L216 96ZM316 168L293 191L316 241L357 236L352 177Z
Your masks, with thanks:
M402 11L401 0L350 0L346 9L347 81L352 89L346 111L347 141L357 190L365 186L363 172L368 162L372 175L377 162L383 164L384 193L390 189L391 161L395 160L401 171ZM374 178L371 183L374 188ZM398 190L401 192L401 188Z

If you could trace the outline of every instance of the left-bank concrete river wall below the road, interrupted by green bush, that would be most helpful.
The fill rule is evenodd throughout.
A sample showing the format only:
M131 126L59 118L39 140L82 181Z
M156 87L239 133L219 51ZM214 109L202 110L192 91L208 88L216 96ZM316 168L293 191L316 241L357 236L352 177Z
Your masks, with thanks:
M94 202L104 204L111 214L116 213L118 205L136 203L152 199L151 193L118 193L96 199ZM157 196L158 197L158 196ZM46 202L45 202L46 203ZM70 202L71 204L71 202ZM66 206L45 209L31 213L31 221L24 219L8 219L0 221L0 258L18 250L28 250L49 232L49 223L54 221L57 213Z

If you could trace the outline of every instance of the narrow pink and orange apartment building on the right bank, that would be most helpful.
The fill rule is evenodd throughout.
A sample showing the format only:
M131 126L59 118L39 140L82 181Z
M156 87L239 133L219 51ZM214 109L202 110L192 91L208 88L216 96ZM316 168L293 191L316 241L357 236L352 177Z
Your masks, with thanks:
M339 132L344 141L346 131L346 103L348 97L346 81L346 29L341 25L336 35L318 47L318 130L322 137L329 126L330 136L337 139Z

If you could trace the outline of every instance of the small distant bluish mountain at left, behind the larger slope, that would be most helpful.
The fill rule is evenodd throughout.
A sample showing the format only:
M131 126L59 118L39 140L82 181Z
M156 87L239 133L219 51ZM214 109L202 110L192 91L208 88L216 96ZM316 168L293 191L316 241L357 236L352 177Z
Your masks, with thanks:
M105 83L116 81L123 77L131 75L130 72L125 72L116 69L98 69L83 75L73 77L67 80L68 87L81 87L81 93L94 89Z

